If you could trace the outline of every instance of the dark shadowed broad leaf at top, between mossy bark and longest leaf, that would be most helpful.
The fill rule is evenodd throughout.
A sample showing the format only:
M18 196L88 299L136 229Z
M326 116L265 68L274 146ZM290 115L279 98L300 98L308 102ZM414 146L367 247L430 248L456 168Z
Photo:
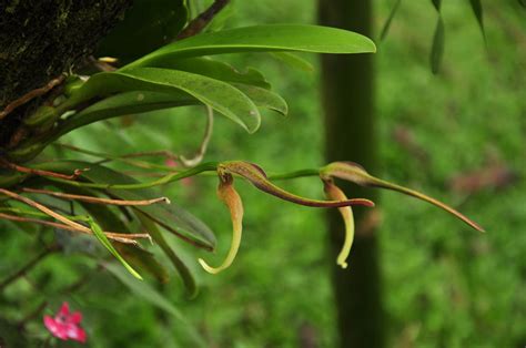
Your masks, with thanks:
M188 22L184 0L134 0L99 44L97 57L130 62L171 42Z

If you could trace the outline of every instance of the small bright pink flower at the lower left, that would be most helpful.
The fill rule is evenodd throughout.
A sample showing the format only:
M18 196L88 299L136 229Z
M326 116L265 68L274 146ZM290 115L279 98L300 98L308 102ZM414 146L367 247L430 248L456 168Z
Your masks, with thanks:
M85 331L80 327L82 314L80 311L70 313L68 303L63 303L54 318L44 316L44 325L48 330L62 340L77 340L85 342Z

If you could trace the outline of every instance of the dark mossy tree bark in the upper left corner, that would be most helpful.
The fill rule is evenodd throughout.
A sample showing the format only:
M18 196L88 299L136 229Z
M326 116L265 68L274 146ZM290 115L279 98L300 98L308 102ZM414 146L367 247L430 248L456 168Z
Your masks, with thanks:
M0 112L81 64L131 2L0 0ZM0 120L0 151L40 101L17 108Z

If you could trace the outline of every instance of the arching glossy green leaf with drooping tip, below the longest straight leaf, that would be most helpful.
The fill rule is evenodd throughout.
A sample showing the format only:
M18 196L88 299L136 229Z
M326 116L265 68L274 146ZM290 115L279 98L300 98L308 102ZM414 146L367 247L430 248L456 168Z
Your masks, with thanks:
M240 90L226 82L169 69L138 68L125 72L98 73L77 90L65 104L77 105L97 96L130 91L174 93L178 99L181 98L181 92L184 92L250 133L260 126L261 115L256 105Z

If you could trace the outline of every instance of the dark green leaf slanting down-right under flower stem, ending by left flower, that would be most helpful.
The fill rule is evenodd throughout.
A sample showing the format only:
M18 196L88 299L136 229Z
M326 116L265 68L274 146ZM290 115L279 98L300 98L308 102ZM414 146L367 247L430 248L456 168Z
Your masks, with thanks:
M102 165L80 161L47 162L34 167L57 173L72 173L75 168L90 170L82 173L80 180L92 183L136 184L138 181ZM133 191L107 190L108 195L127 201L152 199L161 196L154 190ZM215 247L215 237L210 228L175 203L135 206L136 209L182 239L209 250Z

